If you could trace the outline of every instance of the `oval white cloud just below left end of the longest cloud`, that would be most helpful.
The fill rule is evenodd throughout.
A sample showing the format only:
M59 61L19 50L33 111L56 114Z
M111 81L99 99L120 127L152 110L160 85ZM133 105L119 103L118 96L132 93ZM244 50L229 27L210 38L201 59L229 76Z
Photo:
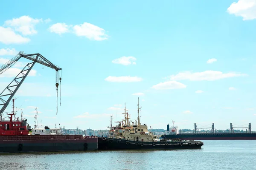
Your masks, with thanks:
M160 82L157 85L153 85L151 88L154 88L156 90L179 89L179 88L186 88L186 85L182 84L181 82L168 81L168 82Z

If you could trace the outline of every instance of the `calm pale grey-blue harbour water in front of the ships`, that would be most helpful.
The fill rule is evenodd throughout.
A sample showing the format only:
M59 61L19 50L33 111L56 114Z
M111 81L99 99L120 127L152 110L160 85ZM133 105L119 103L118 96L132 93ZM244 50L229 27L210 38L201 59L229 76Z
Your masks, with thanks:
M256 140L203 141L201 150L0 155L5 170L256 170Z

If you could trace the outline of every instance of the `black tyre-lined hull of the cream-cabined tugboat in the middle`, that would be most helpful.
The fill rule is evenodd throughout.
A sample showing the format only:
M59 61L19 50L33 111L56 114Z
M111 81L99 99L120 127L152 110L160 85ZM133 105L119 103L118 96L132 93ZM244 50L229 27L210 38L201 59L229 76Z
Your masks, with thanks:
M99 138L98 150L173 150L201 149L201 141L189 142L136 142L125 139Z

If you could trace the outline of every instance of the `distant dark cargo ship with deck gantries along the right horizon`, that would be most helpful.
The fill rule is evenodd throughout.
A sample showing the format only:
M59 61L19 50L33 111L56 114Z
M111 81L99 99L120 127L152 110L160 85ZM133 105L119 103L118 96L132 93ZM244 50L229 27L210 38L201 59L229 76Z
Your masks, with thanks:
M214 123L212 124L212 130L210 133L198 133L198 128L195 124L194 133L179 133L178 127L174 126L174 121L172 121L171 130L169 124L167 125L167 131L161 136L164 139L182 139L182 140L256 140L256 133L251 132L251 123L248 127L246 133L234 133L232 123L230 123L229 133L216 133L214 129ZM247 131L247 130L246 130Z

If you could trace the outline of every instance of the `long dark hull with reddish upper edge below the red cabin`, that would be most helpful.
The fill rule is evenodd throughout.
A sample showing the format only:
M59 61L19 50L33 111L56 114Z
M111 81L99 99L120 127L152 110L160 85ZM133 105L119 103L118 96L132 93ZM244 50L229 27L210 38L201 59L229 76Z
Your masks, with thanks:
M89 151L98 149L98 138L82 135L0 136L0 153Z

